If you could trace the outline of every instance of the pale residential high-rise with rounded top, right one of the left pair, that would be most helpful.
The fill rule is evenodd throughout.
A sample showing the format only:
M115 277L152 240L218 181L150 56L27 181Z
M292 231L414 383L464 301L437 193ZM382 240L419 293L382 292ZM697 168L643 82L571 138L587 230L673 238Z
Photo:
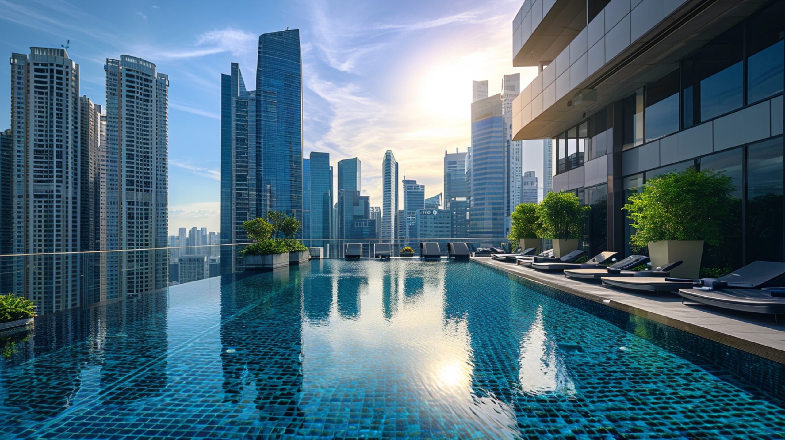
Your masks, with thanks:
M117 166L119 210L108 230L117 225L119 249L166 247L169 78L137 56L107 59L104 70L108 154L117 158L108 166ZM121 297L165 287L166 250L120 253L119 270Z

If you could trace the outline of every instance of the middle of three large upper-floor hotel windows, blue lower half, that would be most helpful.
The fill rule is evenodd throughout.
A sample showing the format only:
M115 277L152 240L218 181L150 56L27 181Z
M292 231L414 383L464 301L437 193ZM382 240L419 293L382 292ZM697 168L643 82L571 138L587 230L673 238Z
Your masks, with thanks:
M684 128L743 105L742 29L736 25L682 64Z

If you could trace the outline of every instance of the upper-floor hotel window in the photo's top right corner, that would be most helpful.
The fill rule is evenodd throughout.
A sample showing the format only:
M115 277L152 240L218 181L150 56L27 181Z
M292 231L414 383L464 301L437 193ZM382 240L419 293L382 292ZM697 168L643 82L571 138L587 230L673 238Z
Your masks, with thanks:
M783 91L785 3L775 2L747 22L747 103Z

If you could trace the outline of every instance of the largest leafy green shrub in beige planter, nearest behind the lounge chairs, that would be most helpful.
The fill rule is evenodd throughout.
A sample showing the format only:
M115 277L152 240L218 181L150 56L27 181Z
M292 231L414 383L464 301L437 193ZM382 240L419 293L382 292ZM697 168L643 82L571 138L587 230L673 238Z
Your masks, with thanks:
M682 261L671 271L679 278L698 278L703 245L719 245L732 206L731 177L710 170L686 169L646 181L623 209L635 233L633 249L648 246L652 266ZM761 243L762 244L762 243Z

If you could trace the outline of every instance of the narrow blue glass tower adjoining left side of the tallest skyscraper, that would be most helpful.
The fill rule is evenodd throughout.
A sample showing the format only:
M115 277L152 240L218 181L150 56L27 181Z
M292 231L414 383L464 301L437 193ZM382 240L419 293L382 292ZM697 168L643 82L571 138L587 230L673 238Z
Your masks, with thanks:
M221 74L221 244L248 242L243 222L265 215L256 203L256 126L256 92L246 90L239 64L232 63L230 74ZM223 274L238 269L239 249L233 248L221 246Z

